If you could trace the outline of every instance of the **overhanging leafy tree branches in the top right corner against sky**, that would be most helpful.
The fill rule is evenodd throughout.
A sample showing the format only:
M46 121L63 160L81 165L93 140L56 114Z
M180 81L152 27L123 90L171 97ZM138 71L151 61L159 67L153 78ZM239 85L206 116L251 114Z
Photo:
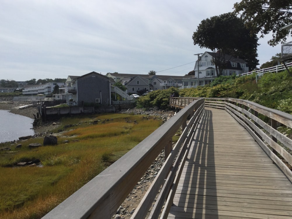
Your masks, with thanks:
M239 13L252 33L260 37L272 33L268 41L271 46L284 43L292 29L282 29L292 22L291 0L242 0L234 4L234 12Z

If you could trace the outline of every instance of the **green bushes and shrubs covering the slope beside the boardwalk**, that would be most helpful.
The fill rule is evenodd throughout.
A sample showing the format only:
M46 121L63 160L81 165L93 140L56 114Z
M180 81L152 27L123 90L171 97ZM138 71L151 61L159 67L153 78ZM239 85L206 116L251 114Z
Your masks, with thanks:
M292 113L292 78L286 71L256 75L221 76L211 84L197 88L170 88L152 91L137 100L137 107L150 108L157 106L166 109L170 94L176 97L220 97L250 100L260 105Z

